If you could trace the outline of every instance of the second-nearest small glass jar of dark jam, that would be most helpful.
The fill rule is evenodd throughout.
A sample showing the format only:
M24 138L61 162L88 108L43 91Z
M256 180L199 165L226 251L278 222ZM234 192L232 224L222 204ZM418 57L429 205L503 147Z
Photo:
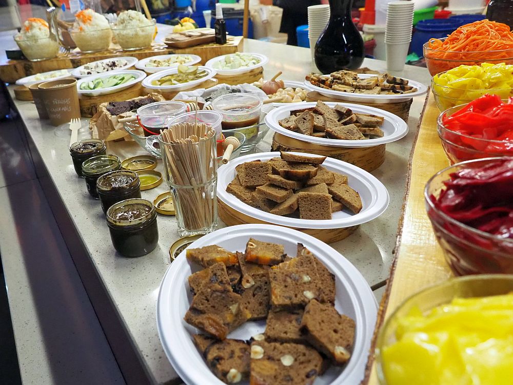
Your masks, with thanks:
M130 198L141 198L141 181L133 171L117 170L102 175L96 181L96 190L104 213L114 203Z

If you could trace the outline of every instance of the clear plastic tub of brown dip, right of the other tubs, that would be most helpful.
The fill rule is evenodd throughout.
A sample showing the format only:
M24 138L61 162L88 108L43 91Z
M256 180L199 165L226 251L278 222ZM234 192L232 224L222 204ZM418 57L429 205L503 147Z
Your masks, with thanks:
M262 100L259 97L249 93L228 93L214 99L212 109L223 115L223 130L244 133L246 144L242 148L243 152L262 140L263 136L259 135Z

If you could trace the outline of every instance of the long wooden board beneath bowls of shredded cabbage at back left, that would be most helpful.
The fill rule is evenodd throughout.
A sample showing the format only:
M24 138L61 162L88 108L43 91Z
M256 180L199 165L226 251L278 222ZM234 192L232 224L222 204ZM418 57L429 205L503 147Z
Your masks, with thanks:
M54 59L43 60L41 62L31 62L28 60L5 60L0 62L0 80L5 83L14 83L16 80L25 78L25 76L36 73L53 71L57 69L76 68L96 60L109 59L110 57L134 56L137 59L155 55L166 55L169 53L189 53L199 55L202 59L201 64L215 56L226 55L242 51L244 48L244 38L242 36L228 36L226 44L203 44L190 48L168 48L164 43L153 43L151 47L138 49L134 51L123 51L117 44L111 44L105 51L83 53L80 50L73 50L69 54L59 54Z

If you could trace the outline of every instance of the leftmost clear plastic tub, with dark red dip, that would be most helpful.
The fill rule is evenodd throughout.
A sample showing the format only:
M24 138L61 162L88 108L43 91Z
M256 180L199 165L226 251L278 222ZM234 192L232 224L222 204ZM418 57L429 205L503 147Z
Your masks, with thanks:
M160 130L168 126L168 122L176 115L187 111L183 102L156 102L137 108L137 116L143 126L144 136L159 135Z

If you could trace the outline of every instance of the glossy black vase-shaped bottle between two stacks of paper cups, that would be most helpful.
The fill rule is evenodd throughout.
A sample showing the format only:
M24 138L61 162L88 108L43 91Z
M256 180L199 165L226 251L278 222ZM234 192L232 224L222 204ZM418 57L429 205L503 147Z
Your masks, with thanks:
M315 65L322 73L359 68L365 57L363 39L352 22L353 0L329 0L326 29L315 44Z

